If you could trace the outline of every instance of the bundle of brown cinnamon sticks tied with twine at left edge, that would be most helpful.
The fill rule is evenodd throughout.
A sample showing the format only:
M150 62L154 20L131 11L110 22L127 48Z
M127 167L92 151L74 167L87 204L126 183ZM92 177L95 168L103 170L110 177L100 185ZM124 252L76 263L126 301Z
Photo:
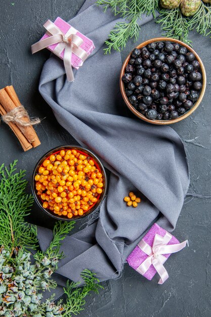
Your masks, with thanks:
M13 86L0 90L0 114L19 139L24 151L40 144L30 118L21 105Z

